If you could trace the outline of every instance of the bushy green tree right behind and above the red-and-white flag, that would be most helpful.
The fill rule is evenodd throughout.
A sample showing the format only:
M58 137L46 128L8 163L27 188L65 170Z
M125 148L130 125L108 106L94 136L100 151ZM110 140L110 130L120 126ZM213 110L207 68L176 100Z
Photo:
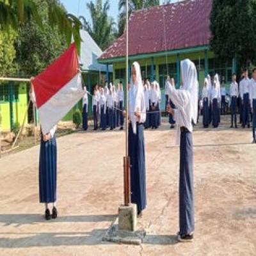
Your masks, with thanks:
M47 1L33 1L44 22L44 29L40 29L34 20L20 26L15 40L16 58L13 64L19 76L36 76L67 49L65 36L60 35L56 27L49 25ZM58 0L54 2L60 4Z

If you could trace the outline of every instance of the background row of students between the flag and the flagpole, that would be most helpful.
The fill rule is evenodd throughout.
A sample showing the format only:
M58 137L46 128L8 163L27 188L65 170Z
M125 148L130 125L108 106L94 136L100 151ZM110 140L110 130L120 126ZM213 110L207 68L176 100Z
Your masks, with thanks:
M84 86L86 91L86 86ZM87 91L86 91L87 92ZM95 86L92 96L93 125L94 129L106 130L108 127L113 130L120 127L124 129L124 90L122 81L118 84L118 90L110 83L104 88ZM83 97L83 129L88 129L88 93Z

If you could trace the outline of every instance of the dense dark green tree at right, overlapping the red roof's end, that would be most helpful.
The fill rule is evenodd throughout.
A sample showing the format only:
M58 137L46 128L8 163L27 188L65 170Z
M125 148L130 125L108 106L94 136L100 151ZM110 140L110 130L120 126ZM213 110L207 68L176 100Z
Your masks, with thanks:
M234 57L237 67L256 61L255 0L214 0L211 11L211 49L223 61Z

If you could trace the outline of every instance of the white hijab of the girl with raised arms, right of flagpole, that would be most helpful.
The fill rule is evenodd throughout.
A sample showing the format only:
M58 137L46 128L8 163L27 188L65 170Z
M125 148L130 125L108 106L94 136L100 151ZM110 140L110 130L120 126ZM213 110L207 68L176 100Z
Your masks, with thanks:
M191 117L196 124L198 111L198 81L195 64L189 60L181 61L181 76L184 90L190 92Z

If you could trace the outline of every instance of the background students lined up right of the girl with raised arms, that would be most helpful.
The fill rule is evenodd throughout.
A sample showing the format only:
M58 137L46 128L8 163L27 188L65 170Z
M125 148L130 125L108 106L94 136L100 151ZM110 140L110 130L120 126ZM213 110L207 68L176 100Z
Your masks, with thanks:
M256 126L256 68L253 68L252 79L248 77L248 70L245 68L239 85L236 82L236 74L232 75L230 84L230 128L237 127L237 106L239 106L240 120L239 124L243 128L250 128L252 122L252 143L255 140ZM202 90L202 107L203 125L205 128L212 123L214 128L220 124L220 115L226 113L226 89L225 82L220 80L218 74L211 81L211 76L207 76Z

